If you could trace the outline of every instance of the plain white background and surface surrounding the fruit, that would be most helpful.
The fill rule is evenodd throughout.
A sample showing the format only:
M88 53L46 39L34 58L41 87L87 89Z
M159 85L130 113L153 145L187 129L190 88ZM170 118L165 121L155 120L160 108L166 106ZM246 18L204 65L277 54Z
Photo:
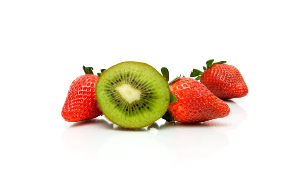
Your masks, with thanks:
M302 179L300 1L0 1L0 179ZM125 130L61 117L82 65L171 79L208 59L249 89L230 115Z

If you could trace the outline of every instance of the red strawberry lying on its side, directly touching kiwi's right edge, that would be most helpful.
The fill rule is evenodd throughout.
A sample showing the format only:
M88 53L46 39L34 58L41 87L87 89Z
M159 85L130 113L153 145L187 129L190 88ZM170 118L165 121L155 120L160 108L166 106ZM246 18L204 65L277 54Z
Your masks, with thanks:
M168 77L167 73L163 75ZM223 118L229 114L228 105L212 94L203 83L190 77L180 77L169 84L171 104L163 119L199 123Z

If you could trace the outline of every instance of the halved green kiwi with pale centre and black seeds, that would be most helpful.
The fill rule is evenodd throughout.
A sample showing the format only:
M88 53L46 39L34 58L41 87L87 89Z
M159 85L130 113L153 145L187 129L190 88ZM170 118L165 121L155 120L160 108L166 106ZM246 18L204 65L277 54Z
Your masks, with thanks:
M108 68L100 75L95 92L104 115L125 128L153 124L170 102L165 78L142 62L121 62Z

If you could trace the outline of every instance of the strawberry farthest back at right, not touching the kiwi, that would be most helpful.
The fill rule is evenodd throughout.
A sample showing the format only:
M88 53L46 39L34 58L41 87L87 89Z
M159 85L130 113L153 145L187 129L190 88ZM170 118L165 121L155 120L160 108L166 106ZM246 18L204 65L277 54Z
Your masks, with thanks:
M235 66L225 64L226 61L213 62L214 59L206 62L204 72L193 69L190 77L198 76L196 79L200 79L200 82L220 99L246 96L248 88L240 71Z

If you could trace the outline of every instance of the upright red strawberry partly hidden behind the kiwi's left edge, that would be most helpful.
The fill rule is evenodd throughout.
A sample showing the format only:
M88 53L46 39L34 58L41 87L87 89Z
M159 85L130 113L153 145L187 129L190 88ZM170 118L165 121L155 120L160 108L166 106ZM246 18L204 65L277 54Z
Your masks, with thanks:
M103 115L95 98L95 86L99 78L92 67L83 66L85 75L77 77L70 85L61 115L65 121L78 122Z

